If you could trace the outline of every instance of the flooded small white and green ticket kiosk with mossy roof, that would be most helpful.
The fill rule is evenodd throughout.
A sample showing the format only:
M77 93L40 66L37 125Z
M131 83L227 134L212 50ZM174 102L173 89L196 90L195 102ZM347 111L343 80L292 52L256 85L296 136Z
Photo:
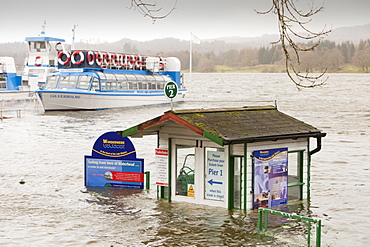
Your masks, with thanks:
M158 136L158 198L241 210L309 198L326 135L272 106L167 111L119 134Z

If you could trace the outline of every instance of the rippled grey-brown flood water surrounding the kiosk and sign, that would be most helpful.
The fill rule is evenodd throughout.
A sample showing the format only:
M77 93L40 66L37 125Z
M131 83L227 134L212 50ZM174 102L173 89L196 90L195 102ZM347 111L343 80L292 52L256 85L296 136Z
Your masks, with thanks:
M189 75L185 75L189 79ZM322 220L322 246L368 246L370 228L370 75L329 74L325 86L298 91L285 74L193 74L175 109L266 105L327 136L313 155L311 201L284 210ZM263 101L263 102L262 102ZM266 101L268 101L266 103ZM32 105L0 122L1 246L296 246L256 234L257 213L156 199L156 137L132 139L151 189L86 189L84 155L105 132L161 115L169 105L40 113ZM315 144L313 145L313 148ZM21 178L25 184L20 184ZM272 224L279 223L272 220ZM311 241L314 243L314 240Z

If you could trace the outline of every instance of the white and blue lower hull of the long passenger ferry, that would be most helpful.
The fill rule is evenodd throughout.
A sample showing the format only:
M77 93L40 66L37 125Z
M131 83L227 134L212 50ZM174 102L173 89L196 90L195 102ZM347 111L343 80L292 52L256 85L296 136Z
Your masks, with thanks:
M102 110L132 106L158 105L171 103L163 91L158 92L71 92L38 91L45 111L62 110ZM180 91L173 100L181 102L185 91Z

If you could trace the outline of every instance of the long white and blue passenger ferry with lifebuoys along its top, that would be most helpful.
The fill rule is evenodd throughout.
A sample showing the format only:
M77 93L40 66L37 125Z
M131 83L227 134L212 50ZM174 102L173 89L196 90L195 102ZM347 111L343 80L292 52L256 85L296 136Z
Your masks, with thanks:
M99 110L169 103L164 86L177 84L183 101L180 61L100 51L61 51L59 70L36 92L45 111Z

